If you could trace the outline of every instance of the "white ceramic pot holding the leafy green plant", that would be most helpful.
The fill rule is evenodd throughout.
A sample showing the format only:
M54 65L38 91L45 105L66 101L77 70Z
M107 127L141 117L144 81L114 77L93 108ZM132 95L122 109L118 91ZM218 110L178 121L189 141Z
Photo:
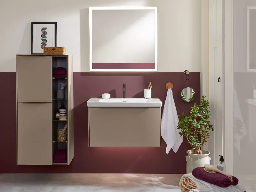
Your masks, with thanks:
M203 167L205 164L210 164L211 158L208 151L202 150L203 155L192 154L193 150L188 150L186 156L187 161L187 174L192 173L192 170L196 167Z

